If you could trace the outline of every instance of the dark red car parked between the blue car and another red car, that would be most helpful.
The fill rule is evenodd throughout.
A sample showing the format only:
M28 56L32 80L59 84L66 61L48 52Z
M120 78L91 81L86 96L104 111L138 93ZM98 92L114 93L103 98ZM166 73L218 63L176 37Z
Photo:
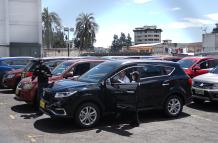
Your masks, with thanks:
M66 60L69 60L69 59L72 59L72 58L69 58L69 57L66 57L66 58L65 57L41 58L41 60L43 60L43 62L45 62L45 64L51 70L53 70L57 65L59 65L63 61L66 61ZM18 83L20 82L20 80L22 78L32 76L32 72L34 71L34 69L35 69L35 67L36 67L36 65L38 63L37 62L38 60L40 60L40 59L38 59L38 58L32 59L31 61L29 61L29 63L26 65L25 68L7 72L2 78L3 87L15 90Z

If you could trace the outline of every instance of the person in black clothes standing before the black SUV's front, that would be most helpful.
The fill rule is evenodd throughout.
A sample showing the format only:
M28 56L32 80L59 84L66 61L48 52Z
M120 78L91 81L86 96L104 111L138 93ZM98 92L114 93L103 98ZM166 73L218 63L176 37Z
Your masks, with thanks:
M39 60L36 64L36 68L33 71L32 80L34 80L36 77L38 78L38 92L36 97L36 107L39 106L39 100L42 97L43 94L43 88L46 88L48 86L48 78L51 77L51 71L50 69L43 64L42 60Z

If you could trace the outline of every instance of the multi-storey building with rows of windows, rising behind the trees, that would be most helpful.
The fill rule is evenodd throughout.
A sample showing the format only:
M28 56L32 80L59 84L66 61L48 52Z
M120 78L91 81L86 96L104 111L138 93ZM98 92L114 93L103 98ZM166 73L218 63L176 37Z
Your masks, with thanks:
M157 29L157 26L138 27L135 28L133 32L135 38L135 45L161 42L162 29Z

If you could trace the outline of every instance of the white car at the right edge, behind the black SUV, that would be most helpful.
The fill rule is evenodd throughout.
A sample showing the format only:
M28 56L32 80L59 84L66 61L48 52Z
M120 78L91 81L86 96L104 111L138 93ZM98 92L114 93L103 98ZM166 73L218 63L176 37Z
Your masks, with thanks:
M209 73L193 78L193 101L218 101L218 66Z

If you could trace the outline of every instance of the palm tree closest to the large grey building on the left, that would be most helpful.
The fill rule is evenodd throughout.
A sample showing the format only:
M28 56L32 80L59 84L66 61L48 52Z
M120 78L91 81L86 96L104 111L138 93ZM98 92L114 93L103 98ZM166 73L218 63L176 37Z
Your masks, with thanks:
M44 8L42 12L42 26L43 26L43 43L47 48L51 48L51 41L53 37L54 28L56 31L61 28L61 19L55 12L49 12L48 8Z

